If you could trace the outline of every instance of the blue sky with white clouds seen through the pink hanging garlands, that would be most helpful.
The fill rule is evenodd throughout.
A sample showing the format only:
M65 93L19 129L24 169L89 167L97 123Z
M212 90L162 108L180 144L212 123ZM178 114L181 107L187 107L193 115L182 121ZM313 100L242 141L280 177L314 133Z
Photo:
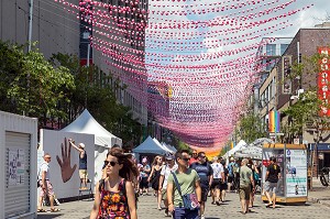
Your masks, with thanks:
M185 11L182 9L185 4L193 4L191 10L212 9L227 7L231 4L240 4L251 2L252 0L230 1L230 0L200 0L186 2L173 2L168 1L150 1L150 11ZM294 37L300 28L314 28L317 23L322 23L323 19L330 17L330 3L329 0L260 0L263 4L249 4L238 9L229 9L219 13L207 14L190 14L190 15L160 15L150 14L150 28L146 30L146 64L160 64L164 65L164 68L147 67L150 80L165 80L174 88L174 99L172 101L172 111L180 113L180 109L196 110L196 114L185 114L182 111L184 119L173 119L173 125L167 122L168 128L178 129L177 123L183 124L186 132L190 130L190 133L196 136L194 140L198 142L198 139L217 139L217 143L224 142L230 134L233 125L237 121L238 108L244 98L249 96L246 88L251 86L249 79L253 75L246 64L241 64L240 58L249 58L255 55L249 55L256 52L256 50L249 50L246 52L240 52L234 55L221 55L219 57L201 58L208 55L223 53L228 51L238 51L246 46L253 46L261 42L262 37ZM216 3L216 7L202 4ZM219 4L219 3L222 4ZM275 10L277 6L287 4L283 10ZM156 6L164 6L158 8ZM265 24L250 26L246 29L239 29L231 31L232 28L240 25L223 24L223 22L233 22L248 26L249 23L264 21L271 18L287 14L294 10L302 9L304 7L315 4L310 9L302 10L292 17L278 18L272 22ZM261 7L258 7L261 6ZM272 13L261 17L255 15L252 19L242 20L249 14L256 14L266 10L273 9ZM246 12L249 10L249 12ZM186 12L188 12L186 10ZM165 19L172 21L164 21ZM174 21L178 23L185 23L189 21L205 21L205 22L219 22L221 25L213 25L211 28L198 28L198 29L155 29L155 25L168 25ZM329 18L330 21L330 18ZM211 32L218 33L211 33ZM220 32L222 31L222 32ZM201 34L197 39L188 39L186 36L191 33ZM166 37L170 35L172 37ZM185 35L185 36L183 36ZM240 42L244 40L244 42ZM213 41L213 43L212 43ZM202 47L197 48L193 43L202 42ZM187 46L186 50L182 50L180 45ZM200 45L200 44L198 44ZM165 56L164 56L165 54ZM157 57L163 55L163 57ZM173 57L169 57L172 55ZM187 55L197 55L199 58L188 58ZM180 61L180 62L179 62ZM234 69L228 69L228 62L239 63L241 66ZM224 64L224 66L217 67L215 69L173 69L167 68L166 65L210 65L210 64ZM180 78L180 79L179 79ZM249 89L248 89L249 90ZM188 97L188 98L187 98ZM189 97L191 97L189 99ZM200 97L199 99L196 97ZM194 105L191 105L194 102ZM205 109L209 109L209 112L205 112ZM240 110L240 109L239 109ZM202 113L199 113L202 112ZM207 116L206 116L207 114ZM208 118L206 118L208 117ZM189 119L187 119L189 118ZM210 121L205 122L205 121ZM172 125L172 127L170 127ZM200 128L200 130L197 129ZM202 130L202 131L201 131ZM177 130L178 131L178 130ZM183 131L184 132L184 131ZM209 134L207 134L209 133ZM187 133L183 133L187 134Z

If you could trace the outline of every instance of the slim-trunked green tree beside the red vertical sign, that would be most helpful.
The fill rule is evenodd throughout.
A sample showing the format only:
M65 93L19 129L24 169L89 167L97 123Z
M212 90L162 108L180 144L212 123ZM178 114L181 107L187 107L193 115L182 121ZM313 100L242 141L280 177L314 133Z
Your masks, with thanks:
M297 96L298 100L284 110L284 113L289 118L289 123L286 124L286 131L288 135L302 136L304 131L307 131L314 135L316 145L312 151L310 168L314 167L314 157L316 155L318 143L322 139L322 135L328 132L330 128L329 117L323 116L321 112L323 108L330 109L330 106L327 103L327 101L322 101L320 99L318 94L319 88L315 83L315 75L321 70L320 61L322 58L323 55L315 54L310 57L302 57L301 63L295 63L292 66L292 74L288 76L288 79L295 80L298 78L299 86L304 86L306 91L302 95ZM301 80L302 77L305 78L304 85Z

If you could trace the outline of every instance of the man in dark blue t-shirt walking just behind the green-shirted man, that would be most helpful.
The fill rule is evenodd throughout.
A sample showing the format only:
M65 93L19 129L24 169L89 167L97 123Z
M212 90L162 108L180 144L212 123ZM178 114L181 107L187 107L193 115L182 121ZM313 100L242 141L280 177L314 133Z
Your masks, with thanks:
M205 219L205 202L208 198L209 188L212 185L213 180L213 169L211 165L207 162L205 152L198 153L198 162L193 163L190 166L195 169L200 178L201 187L201 202L200 202L200 219Z

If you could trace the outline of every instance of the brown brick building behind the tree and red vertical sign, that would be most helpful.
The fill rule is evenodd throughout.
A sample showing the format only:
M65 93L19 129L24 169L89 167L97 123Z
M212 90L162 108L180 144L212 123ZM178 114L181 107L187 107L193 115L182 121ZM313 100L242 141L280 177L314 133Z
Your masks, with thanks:
M267 105L260 110L262 117L267 117L266 111L277 109L284 111L289 106L299 101L299 95L310 89L310 87L318 86L319 73L302 72L300 77L286 79L292 74L292 66L297 63L304 63L304 57L310 57L318 53L320 47L330 46L330 29L329 28L314 28L300 29L287 50L278 58L275 66L272 68L270 76L264 80L260 87L260 99L268 99ZM274 87L275 85L275 87ZM265 108L267 110L265 110ZM289 122L288 117L282 114L282 123ZM294 140L299 141L294 141ZM314 171L320 171L323 166L330 166L330 131L324 131L319 141L319 149L315 147L316 131L309 129L308 125L302 131L301 136L294 136L294 139L278 138L283 143L304 143L308 145L309 150L316 149L316 153L310 153L315 161ZM312 157L311 157L312 156ZM316 175L316 174L315 174Z

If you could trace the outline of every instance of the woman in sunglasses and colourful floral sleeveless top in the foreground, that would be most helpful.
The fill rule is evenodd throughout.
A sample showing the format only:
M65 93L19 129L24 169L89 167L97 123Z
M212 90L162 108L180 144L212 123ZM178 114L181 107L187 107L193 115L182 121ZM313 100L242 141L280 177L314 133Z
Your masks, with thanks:
M138 176L138 168L128 155L109 152L103 169L107 177L96 188L90 219L136 219L134 187L130 177Z

